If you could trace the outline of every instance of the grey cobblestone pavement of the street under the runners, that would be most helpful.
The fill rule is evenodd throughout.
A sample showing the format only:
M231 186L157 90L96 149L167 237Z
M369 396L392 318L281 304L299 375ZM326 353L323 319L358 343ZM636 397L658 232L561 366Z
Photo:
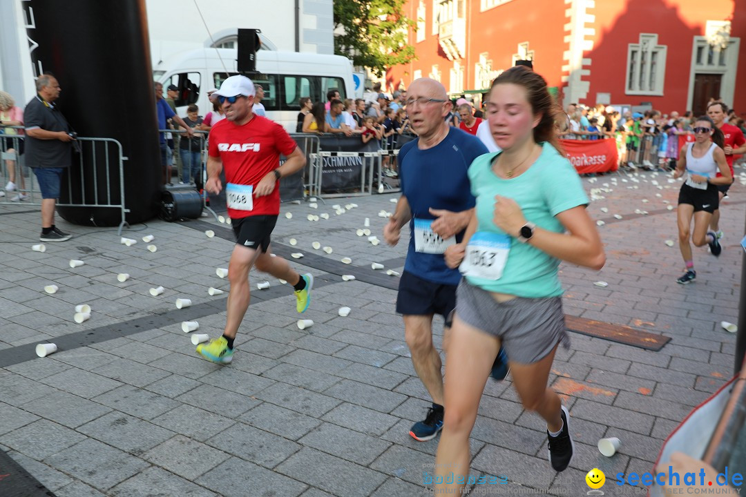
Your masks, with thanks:
M667 178L584 178L604 197L589 212L605 221L608 261L598 273L562 265L561 277L567 314L671 341L649 352L571 334L550 377L570 409L577 451L560 474L546 459L545 425L523 411L510 378L490 380L472 433L472 472L508 483L479 486L475 495L518 486L578 495L594 467L612 481L618 472L647 472L677 422L730 378L735 336L720 322L737 321L745 189L737 181L723 207L722 256L695 250L698 279L683 286L677 244L665 244L677 239L675 209L667 207L680 183ZM402 270L408 238L374 246L356 233L370 218L383 239L386 219L377 213L392 211L394 198L283 205L275 252L304 253L289 260L316 276L303 316L314 324L298 329L292 288L252 273L252 304L228 367L198 358L181 321L222 332L226 295L210 297L207 288L228 291L216 268L227 267L230 227L151 221L125 231L138 240L126 247L116 230L60 222L76 237L39 253L31 250L35 208L0 208L0 448L60 497L427 495L423 472L432 472L437 440L408 434L429 402L394 311L397 278L384 273ZM335 215L333 203L358 206ZM328 220L307 220L323 212ZM143 235L154 235L157 252L146 250ZM313 241L333 253L314 250ZM345 256L351 265L339 262ZM85 265L69 268L69 259ZM372 262L385 269L372 270ZM117 273L130 279L117 282ZM357 279L344 282L342 274ZM256 290L264 280L270 288ZM600 280L608 287L593 285ZM53 295L43 290L51 283L59 286ZM148 289L159 285L165 292L151 297ZM177 297L192 307L177 310ZM81 303L93 314L78 324L73 308ZM351 307L348 317L337 315L340 306ZM442 320L435 332L440 343ZM60 350L37 358L35 344L47 341ZM622 440L612 458L595 447L607 436Z

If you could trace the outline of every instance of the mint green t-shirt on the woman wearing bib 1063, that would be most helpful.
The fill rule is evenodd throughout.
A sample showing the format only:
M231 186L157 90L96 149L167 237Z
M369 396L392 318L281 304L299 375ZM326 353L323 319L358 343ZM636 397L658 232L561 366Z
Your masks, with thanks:
M588 205L583 184L570 161L548 142L542 153L523 174L510 180L492 172L492 163L501 152L486 153L474 159L468 169L471 193L477 197L477 232L506 235L492 221L495 195L509 197L518 203L527 221L536 227L557 233L565 232L555 218L560 212ZM549 256L530 243L510 237L510 252L500 279L466 276L472 285L486 291L525 298L557 297L562 285L557 276L560 260Z

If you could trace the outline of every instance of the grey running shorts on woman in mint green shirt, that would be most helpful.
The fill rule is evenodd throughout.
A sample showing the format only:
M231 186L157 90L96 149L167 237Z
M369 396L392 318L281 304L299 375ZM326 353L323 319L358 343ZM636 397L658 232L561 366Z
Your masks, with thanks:
M533 364L554 346L570 347L565 330L562 297L513 300L498 303L489 291L462 279L456 291L456 315L464 323L500 338L508 359Z

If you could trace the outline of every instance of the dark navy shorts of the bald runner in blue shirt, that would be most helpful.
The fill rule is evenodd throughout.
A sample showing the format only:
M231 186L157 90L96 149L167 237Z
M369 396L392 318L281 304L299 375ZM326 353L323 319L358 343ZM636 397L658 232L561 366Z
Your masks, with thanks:
M445 317L446 326L450 326L450 314L456 308L457 287L458 285L433 283L404 271L399 279L396 311L405 316L440 314Z

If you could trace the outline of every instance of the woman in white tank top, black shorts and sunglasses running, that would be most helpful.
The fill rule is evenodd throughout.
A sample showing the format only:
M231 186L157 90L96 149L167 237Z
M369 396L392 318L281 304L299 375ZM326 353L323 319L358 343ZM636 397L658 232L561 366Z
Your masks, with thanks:
M692 259L692 246L689 244L692 217L695 229L691 232L695 247L709 244L713 256L722 250L715 232L707 231L712 212L718 209L718 185L730 185L733 177L725 162L723 151L724 136L715 127L712 119L703 115L695 122L695 142L681 148L674 177L686 174L686 181L679 191L677 221L679 226L679 248L686 266L685 273L676 281L682 285L691 283L697 277ZM716 177L718 171L722 176Z

